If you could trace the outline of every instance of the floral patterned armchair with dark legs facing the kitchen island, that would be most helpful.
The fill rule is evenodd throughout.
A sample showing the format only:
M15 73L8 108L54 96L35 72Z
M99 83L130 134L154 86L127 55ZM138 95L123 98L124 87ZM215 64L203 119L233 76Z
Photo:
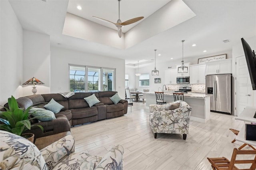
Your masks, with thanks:
M177 105L180 103L180 105ZM176 105L173 110L167 110ZM149 124L156 138L157 133L182 134L186 140L192 108L184 101L167 104L150 104ZM172 109L172 108L171 108Z

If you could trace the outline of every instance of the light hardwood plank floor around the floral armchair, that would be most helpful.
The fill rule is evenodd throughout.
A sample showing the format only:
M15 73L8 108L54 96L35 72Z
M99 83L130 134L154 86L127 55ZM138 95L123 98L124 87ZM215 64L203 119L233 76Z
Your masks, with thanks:
M229 128L240 130L244 124L234 120L235 116L212 112L206 123L190 120L189 134L183 140L180 134L158 134L154 139L148 113L146 104L134 102L132 112L128 107L124 116L72 127L75 152L104 156L121 144L123 170L211 170L207 157L230 159L233 148L242 145L231 143L235 135Z

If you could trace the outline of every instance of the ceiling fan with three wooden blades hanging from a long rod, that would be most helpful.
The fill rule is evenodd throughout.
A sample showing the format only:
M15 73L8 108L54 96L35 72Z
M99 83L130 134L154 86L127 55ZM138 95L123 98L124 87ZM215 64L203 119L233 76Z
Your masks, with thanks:
M139 20L142 20L144 18L144 16L140 16L140 17L137 17L137 18L132 18L130 20L127 20L125 22L122 22L120 20L120 1L121 0L118 0L118 20L116 23L114 22L111 22L111 21L108 21L108 20L104 20L102 18L99 18L99 17L96 17L96 16L92 16L94 18L97 18L99 20L103 20L103 21L107 21L107 22L111 22L112 24L115 24L115 26L118 28L117 32L118 32L118 36L121 38L122 37L122 27L125 26L125 25L129 25L129 24L133 24L134 22L137 22Z

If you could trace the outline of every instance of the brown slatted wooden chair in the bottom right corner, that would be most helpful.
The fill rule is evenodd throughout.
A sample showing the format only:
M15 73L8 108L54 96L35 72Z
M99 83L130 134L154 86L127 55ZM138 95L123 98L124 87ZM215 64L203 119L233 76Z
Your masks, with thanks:
M242 155L236 157L237 155ZM246 155L254 155L254 159L249 159ZM238 150L237 148L233 149L231 160L228 160L225 157L221 158L207 158L211 163L213 170L255 170L256 169L256 150ZM251 164L250 168L240 169L234 164ZM248 166L248 165L246 165Z

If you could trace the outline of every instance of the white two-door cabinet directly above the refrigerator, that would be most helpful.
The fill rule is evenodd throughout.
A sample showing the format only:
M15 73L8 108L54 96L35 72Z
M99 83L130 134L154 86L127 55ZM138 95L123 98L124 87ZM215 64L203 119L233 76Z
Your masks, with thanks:
M206 75L210 74L230 74L232 59L206 62Z

